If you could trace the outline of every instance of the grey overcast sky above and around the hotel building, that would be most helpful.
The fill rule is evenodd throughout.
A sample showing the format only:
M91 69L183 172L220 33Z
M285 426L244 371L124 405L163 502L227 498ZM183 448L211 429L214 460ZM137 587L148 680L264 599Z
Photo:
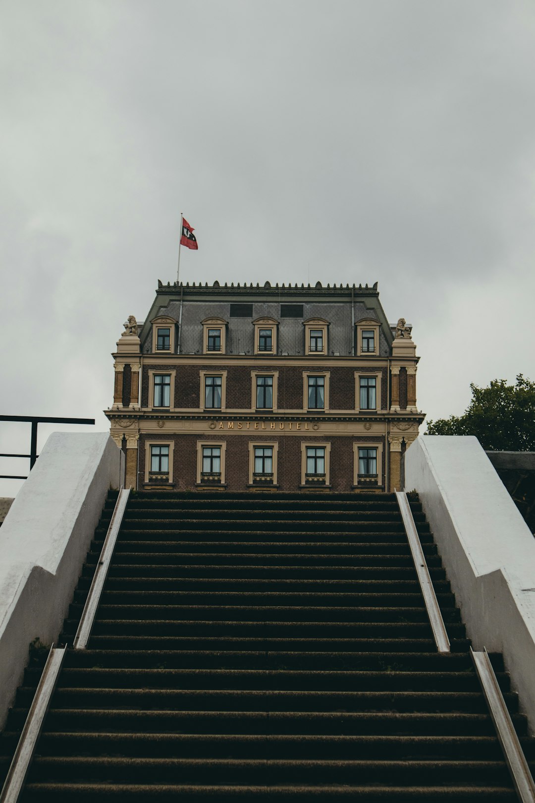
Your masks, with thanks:
M535 3L2 0L0 59L4 414L107 429L181 210L184 281L379 281L428 418L535 379Z

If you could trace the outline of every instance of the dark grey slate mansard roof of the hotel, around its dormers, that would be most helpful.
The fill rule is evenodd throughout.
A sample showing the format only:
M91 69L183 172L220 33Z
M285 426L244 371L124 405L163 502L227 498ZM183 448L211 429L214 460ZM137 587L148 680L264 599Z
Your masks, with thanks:
M299 355L304 349L303 321L323 318L329 322L328 349L330 354L341 357L351 354L353 347L353 308L355 322L365 318L374 319L381 325L379 352L387 356L392 333L379 292L374 287L189 287L186 285L159 287L155 303L149 312L140 333L142 350L152 348L150 321L158 315L167 315L182 321L180 353L202 353L201 321L220 317L229 321L227 349L229 354L253 353L253 320L270 317L278 320L278 353ZM231 317L230 304L253 304L250 317ZM302 304L300 318L281 317L281 304Z

